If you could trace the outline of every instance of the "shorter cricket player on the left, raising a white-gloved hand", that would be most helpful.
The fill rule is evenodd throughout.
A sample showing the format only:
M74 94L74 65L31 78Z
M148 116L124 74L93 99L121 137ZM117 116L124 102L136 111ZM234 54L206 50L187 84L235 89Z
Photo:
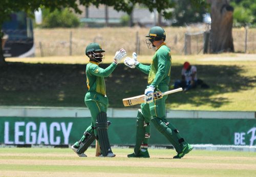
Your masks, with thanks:
M105 57L105 51L98 43L90 43L86 48L86 55L89 57L89 63L86 65L88 92L84 97L84 102L91 112L91 125L88 126L82 138L71 148L79 157L87 157L84 151L88 149L91 143L97 139L100 148L100 157L115 157L112 152L108 137L108 120L106 110L109 105L106 97L106 88L104 77L110 76L115 70L118 62L126 56L126 51L121 49L117 51L113 63L108 68L102 69L99 63Z

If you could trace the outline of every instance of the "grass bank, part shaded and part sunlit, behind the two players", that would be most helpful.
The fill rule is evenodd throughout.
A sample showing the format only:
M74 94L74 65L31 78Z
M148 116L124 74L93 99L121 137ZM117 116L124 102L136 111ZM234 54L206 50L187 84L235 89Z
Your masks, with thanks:
M139 56L139 61L149 63L151 57ZM113 56L106 56L101 67L106 68L111 58ZM0 70L0 105L84 107L86 57L6 60L8 64ZM255 54L173 55L170 85L180 78L184 61L197 66L198 78L203 79L210 88L169 95L167 108L256 110ZM110 107L123 108L123 98L143 94L147 76L120 63L105 81Z

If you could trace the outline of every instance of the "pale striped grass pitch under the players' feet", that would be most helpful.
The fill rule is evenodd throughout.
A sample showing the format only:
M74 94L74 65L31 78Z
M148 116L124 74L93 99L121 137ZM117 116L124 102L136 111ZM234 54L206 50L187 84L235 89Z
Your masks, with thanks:
M79 158L68 148L0 148L0 176L255 176L256 153L193 150L172 159L173 149L149 149L151 158L126 158L133 149L114 148L115 158L97 158L89 148Z

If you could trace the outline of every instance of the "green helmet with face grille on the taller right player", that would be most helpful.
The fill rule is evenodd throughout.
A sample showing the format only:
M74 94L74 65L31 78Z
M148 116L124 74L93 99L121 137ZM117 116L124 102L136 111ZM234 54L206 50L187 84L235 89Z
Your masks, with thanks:
M151 48L155 47L153 45L153 41L154 40L158 41L158 40L161 40L161 39L163 39L163 41L165 41L166 34L165 34L165 31L162 27L156 26L156 27L152 27L150 29L150 32L148 33L148 35L146 37L149 38L149 39L146 39L147 47L151 49Z

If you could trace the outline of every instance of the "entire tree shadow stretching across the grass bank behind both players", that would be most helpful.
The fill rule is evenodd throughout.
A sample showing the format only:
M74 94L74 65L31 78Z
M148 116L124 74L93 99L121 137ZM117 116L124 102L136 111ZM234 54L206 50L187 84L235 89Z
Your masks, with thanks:
M100 64L106 68L109 64ZM179 79L181 65L172 66L171 82ZM0 105L80 106L84 107L86 65L28 64L10 62L0 70ZM210 88L172 94L166 103L210 105L221 107L227 98L211 96L249 90L255 77L242 76L244 69L228 65L197 65L198 78ZM122 99L141 95L147 85L147 75L137 69L119 64L110 77L105 78L110 107L123 107ZM138 106L133 106L133 108Z

